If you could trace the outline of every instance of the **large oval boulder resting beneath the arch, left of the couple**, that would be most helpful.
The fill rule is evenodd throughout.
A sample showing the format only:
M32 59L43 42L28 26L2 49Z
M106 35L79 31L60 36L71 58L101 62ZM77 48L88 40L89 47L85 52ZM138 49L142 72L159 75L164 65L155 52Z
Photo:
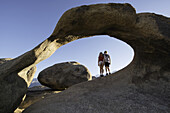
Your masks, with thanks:
M60 90L91 79L92 76L88 69L77 62L56 64L38 75L38 81L42 85Z

